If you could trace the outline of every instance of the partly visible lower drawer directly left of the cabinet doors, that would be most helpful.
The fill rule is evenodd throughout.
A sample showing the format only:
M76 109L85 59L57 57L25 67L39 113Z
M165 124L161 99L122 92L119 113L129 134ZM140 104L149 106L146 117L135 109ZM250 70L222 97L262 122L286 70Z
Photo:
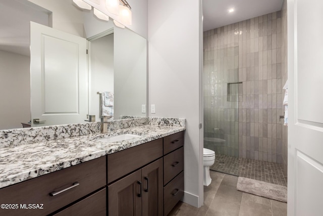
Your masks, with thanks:
M95 194L75 203L74 205L60 211L55 216L88 216L88 215L97 215L103 216L106 215L106 189L102 189Z

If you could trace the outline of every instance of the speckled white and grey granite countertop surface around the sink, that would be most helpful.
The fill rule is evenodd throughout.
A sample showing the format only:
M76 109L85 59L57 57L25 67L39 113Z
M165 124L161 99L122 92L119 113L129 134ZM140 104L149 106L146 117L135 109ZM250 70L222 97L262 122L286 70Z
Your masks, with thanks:
M181 131L181 126L143 125L107 134L78 136L0 148L0 188L118 152ZM140 135L131 140L104 143L97 139L120 134Z

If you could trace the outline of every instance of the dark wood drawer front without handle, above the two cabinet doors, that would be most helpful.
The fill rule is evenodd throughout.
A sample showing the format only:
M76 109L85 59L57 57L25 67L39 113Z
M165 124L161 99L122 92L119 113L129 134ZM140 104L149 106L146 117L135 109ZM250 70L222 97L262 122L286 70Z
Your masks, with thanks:
M111 183L163 156L163 139L107 155L107 183Z

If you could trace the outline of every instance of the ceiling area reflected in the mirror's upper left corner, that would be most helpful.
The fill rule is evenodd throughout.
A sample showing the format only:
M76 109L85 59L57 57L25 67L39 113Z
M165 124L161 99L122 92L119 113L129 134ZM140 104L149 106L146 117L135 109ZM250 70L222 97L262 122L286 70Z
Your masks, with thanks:
M30 56L30 21L48 25L49 13L26 0L1 0L0 50Z

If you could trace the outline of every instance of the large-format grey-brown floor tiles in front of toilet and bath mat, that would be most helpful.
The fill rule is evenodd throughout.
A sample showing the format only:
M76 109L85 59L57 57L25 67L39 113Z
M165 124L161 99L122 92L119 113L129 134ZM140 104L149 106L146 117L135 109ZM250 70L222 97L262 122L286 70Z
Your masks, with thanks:
M179 202L170 216L286 216L287 203L237 191L238 177L210 171L204 204L196 208Z

